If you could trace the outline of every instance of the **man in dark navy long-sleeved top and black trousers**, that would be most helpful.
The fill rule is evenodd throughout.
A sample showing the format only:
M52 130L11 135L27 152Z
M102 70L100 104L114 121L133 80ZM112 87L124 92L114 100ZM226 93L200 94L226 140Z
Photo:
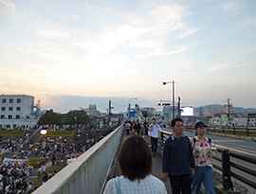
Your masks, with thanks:
M174 118L174 133L166 140L162 159L162 180L170 178L173 194L191 194L191 176L194 175L194 159L189 137L183 134L183 120Z

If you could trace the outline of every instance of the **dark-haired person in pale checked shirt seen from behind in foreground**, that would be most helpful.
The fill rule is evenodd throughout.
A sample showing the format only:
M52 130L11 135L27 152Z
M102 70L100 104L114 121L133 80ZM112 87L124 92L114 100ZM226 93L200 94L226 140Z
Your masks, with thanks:
M163 182L151 174L152 155L142 136L130 136L119 152L122 176L107 182L103 194L167 194Z

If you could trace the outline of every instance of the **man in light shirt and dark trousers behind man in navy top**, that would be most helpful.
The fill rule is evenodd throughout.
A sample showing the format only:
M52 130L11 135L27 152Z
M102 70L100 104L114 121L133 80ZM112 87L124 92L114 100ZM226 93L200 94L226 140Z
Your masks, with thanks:
M156 149L157 149L157 139L158 139L158 136L160 136L160 131L161 131L161 128L156 123L155 118L152 118L152 124L149 127L149 131L150 131L150 139L151 139L151 150L154 156L156 154Z

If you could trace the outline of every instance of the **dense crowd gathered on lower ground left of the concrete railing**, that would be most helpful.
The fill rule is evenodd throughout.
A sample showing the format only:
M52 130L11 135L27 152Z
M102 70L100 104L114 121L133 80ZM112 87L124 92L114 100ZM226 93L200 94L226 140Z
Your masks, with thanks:
M37 129L50 127L50 130L61 131L66 130L70 126L45 125L37 127ZM76 129L78 127L80 130L71 139L59 136L54 139L49 137L39 138L33 142L29 138L36 131L36 128L33 128L33 130L29 129L30 131L27 131L21 138L13 137L8 139L0 136L0 153L2 153L3 162L0 167L0 194L31 193L36 189L33 182L30 182L31 180L36 182L42 180L43 184L45 184L47 180L57 173L61 164L64 164L62 165L64 167L68 164L66 161L79 157L82 152L97 144L109 132L82 130L92 128L93 126L90 125L76 126ZM28 148L24 148L26 143ZM8 154L6 150L8 150ZM16 162L8 162L8 158L4 156L11 158L13 161L16 160ZM43 166L34 168L27 166L29 159L39 159L46 161L46 163ZM37 177L37 179L29 178L31 176Z

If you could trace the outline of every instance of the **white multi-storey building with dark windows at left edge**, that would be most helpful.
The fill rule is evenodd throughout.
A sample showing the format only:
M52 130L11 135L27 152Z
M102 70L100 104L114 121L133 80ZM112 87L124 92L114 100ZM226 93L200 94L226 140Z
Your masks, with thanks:
M39 107L34 106L34 97L2 95L0 96L0 127L36 125L38 111Z

